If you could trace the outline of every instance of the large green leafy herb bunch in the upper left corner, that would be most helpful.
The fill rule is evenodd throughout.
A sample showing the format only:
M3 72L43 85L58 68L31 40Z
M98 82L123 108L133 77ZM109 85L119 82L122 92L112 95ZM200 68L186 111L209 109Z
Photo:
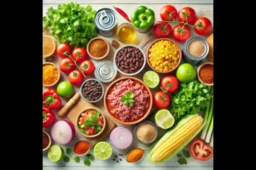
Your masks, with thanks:
M79 3L59 4L57 9L49 8L43 17L43 31L49 27L50 34L61 43L68 42L73 48L84 47L93 37L96 37L94 15L88 5L80 7Z

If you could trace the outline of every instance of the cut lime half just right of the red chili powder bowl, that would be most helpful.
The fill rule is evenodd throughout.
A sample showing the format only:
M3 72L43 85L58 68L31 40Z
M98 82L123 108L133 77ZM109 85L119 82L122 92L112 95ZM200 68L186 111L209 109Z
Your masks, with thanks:
M108 159L112 152L112 147L108 142L99 142L94 146L94 155L100 160Z

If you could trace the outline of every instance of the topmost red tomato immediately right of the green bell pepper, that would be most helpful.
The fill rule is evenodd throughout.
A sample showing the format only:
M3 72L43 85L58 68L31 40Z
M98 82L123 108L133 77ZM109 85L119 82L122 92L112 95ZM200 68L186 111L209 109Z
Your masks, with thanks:
M177 9L172 5L165 5L160 9L160 17L162 20L175 20L177 17Z

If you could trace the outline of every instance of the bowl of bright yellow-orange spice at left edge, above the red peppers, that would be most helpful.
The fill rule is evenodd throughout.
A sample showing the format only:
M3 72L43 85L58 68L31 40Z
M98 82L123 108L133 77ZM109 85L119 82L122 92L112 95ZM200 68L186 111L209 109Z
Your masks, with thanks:
M51 87L54 86L61 77L59 69L54 63L45 62L43 64L43 86Z

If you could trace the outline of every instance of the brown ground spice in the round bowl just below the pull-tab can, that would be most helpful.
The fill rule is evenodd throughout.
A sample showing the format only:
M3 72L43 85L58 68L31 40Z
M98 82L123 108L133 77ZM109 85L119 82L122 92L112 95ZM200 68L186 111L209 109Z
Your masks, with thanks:
M93 57L100 58L108 51L108 45L101 39L90 42L89 52Z

